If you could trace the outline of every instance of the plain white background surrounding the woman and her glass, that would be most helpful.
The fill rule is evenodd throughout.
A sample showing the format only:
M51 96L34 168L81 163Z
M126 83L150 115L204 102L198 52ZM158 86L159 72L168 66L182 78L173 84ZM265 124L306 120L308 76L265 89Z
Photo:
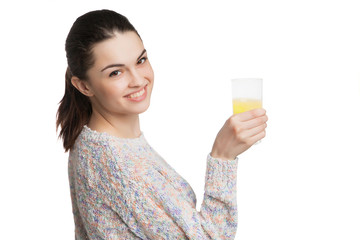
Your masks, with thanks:
M239 156L236 239L360 239L358 1L3 2L1 239L74 239L55 114L68 31L102 8L144 41L156 82L141 129L198 210L230 79L261 77L267 136Z

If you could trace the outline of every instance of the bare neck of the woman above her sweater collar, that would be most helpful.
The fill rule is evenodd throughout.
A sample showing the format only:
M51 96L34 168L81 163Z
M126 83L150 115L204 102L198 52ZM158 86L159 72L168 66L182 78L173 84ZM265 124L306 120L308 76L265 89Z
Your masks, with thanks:
M120 138L137 138L141 134L138 114L113 116L93 109L87 126L97 132L107 132Z

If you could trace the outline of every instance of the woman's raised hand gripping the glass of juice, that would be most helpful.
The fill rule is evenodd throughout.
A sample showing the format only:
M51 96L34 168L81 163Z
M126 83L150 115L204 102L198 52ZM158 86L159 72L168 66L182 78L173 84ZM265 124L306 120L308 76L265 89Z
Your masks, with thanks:
M265 137L267 120L263 108L231 116L217 134L210 155L223 160L234 160Z

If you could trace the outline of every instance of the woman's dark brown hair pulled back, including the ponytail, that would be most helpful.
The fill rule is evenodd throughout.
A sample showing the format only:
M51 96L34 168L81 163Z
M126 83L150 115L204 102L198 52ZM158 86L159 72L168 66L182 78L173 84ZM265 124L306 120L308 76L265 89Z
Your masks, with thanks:
M90 99L72 85L71 78L76 76L86 81L87 71L95 62L92 55L94 45L112 38L115 32L127 31L133 31L140 37L125 16L111 10L88 12L78 17L71 27L65 43L68 63L65 73L65 94L59 102L56 114L56 131L60 126L59 138L63 140L65 152L72 148L92 114Z

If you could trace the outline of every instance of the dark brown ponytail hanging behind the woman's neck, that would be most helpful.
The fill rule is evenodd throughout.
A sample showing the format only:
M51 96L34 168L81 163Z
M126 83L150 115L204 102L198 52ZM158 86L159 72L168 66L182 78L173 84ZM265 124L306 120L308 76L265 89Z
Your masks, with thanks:
M72 73L67 67L65 73L65 94L59 102L56 131L61 127L59 137L63 139L65 152L70 150L83 126L90 120L91 103L87 96L79 92L71 83Z

